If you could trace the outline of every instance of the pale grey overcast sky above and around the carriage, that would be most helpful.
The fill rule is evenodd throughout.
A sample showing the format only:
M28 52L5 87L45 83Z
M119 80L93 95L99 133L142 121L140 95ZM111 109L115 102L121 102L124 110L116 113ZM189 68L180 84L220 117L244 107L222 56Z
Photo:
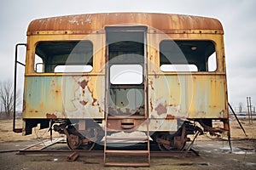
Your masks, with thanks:
M0 81L13 80L15 44L26 42L31 20L103 12L192 14L216 18L224 26L230 103L246 105L251 96L256 105L255 8L255 0L1 0Z

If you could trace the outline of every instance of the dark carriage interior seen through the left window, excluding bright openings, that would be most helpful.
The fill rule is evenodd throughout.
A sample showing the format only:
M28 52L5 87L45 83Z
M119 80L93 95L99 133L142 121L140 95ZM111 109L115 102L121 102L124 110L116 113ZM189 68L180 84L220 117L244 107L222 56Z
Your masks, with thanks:
M36 54L43 59L44 72L57 65L91 65L93 47L89 41L39 42Z

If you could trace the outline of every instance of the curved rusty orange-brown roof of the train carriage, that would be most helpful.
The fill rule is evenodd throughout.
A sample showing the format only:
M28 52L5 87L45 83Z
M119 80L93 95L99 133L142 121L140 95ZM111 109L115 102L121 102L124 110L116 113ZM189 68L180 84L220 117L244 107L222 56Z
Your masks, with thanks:
M203 33L223 34L219 20L183 14L154 13L102 13L78 14L32 20L27 35L47 34L49 31L65 33L91 33L105 26L150 26L164 33ZM187 32L186 32L187 31Z

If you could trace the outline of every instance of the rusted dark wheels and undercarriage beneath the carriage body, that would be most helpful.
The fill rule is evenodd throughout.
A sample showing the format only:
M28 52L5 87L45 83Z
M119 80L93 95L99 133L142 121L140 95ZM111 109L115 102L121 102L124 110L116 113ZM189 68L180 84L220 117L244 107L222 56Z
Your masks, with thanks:
M85 124L86 128L84 127L83 130L80 130L81 125L79 125L79 121L55 120L52 123L52 129L55 132L67 136L67 145L70 150L93 150L95 144L103 145L105 134L100 124L96 123L94 120L86 121ZM125 129L125 131L127 134L132 132L131 130L129 131L129 129ZM186 143L191 141L188 135L195 136L196 133L202 135L207 132L214 136L220 136L221 133L227 132L229 136L229 131L226 129L212 127L212 123L209 123L209 121L199 119L183 122L177 129L177 132L149 132L151 138L150 143L157 144L159 149L163 151L183 150ZM113 133L119 133L119 131L108 132L107 135Z

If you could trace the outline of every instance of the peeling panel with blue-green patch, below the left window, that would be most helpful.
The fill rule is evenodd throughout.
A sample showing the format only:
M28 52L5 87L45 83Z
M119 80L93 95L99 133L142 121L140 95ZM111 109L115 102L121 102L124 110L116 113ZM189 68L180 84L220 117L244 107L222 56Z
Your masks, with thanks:
M103 118L103 75L26 77L24 118Z

